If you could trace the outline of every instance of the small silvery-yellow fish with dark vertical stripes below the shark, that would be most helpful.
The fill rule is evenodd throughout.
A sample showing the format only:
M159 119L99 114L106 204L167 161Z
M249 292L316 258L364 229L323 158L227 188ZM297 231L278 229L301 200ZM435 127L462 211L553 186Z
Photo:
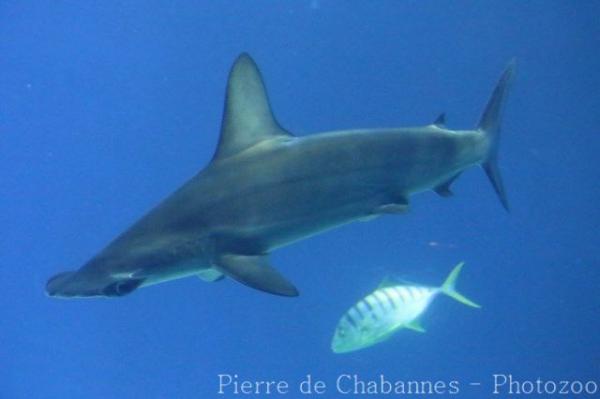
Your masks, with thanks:
M401 328L425 332L419 317L439 294L474 308L480 306L456 292L456 279L464 262L454 267L440 287L382 284L342 316L331 349L352 352L385 341Z

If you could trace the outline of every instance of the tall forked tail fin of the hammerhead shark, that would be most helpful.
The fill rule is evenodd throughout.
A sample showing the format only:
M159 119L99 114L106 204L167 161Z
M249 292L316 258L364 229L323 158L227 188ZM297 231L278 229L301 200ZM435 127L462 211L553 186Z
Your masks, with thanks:
M483 115L481 115L479 125L477 126L477 129L483 132L487 137L490 146L488 155L483 160L481 166L490 179L502 206L507 211L509 210L508 199L506 197L504 184L502 183L502 176L498 169L498 145L500 141L500 117L502 108L506 101L508 88L510 87L510 83L515 74L516 67L517 62L515 59L512 59L496 84L496 88L494 89L494 92L483 111Z

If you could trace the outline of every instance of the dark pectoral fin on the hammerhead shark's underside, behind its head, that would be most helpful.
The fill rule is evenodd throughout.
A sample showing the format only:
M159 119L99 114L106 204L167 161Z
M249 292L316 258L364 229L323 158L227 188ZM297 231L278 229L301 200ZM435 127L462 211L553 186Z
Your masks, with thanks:
M298 296L298 290L269 265L266 255L221 255L215 268L249 287L282 296Z

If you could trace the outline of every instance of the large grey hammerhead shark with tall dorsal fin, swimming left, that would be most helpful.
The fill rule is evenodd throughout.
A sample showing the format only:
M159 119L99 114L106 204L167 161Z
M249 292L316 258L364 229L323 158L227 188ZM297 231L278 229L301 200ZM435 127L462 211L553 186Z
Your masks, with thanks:
M514 69L511 62L473 130L449 130L441 115L422 127L294 137L273 117L260 72L242 54L229 75L209 165L79 270L52 277L46 291L122 296L198 275L295 296L269 265L272 250L352 221L403 213L415 193L451 195L450 184L474 165L484 168L508 209L496 158Z

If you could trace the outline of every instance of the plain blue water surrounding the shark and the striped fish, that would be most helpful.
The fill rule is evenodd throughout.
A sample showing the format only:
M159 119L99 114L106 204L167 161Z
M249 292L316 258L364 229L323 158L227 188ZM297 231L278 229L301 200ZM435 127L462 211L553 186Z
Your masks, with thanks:
M560 1L0 4L0 397L204 398L217 374L341 373L479 381L600 380L600 3ZM75 269L210 160L224 85L248 51L298 135L475 126L503 68L507 214L479 168L456 195L276 251L296 299L182 279L63 301ZM400 332L331 353L341 314L394 274L462 292ZM483 393L482 393L483 392ZM289 394L288 397L296 397Z

